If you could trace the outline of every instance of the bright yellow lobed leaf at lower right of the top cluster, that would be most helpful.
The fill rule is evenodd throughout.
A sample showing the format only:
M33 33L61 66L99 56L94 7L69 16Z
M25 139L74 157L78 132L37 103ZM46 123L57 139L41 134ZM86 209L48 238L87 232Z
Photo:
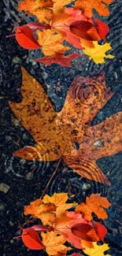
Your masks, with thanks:
M91 44L93 44L91 42ZM109 43L105 43L104 45L99 45L98 42L94 42L94 47L89 46L83 50L84 54L87 54L91 59L94 60L96 64L105 62L104 58L114 58L112 54L106 55L106 51L112 49Z

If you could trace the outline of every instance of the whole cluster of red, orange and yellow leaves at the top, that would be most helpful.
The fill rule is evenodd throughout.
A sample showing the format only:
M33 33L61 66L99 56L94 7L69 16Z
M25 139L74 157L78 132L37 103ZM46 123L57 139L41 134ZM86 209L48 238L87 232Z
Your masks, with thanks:
M105 62L104 58L113 58L106 55L111 49L109 43L105 43L105 36L109 27L102 20L95 19L93 9L99 15L108 16L109 9L106 4L113 0L24 0L19 2L19 11L34 15L38 22L31 22L17 27L15 33L17 42L25 49L41 48L45 57L35 59L46 65L57 63L71 67L70 61L81 57L72 53L65 56L65 51L71 47L63 43L67 41L77 49L82 49L94 62ZM73 7L67 5L72 3ZM35 37L36 32L36 37ZM36 39L38 38L38 39ZM100 39L104 44L98 44Z

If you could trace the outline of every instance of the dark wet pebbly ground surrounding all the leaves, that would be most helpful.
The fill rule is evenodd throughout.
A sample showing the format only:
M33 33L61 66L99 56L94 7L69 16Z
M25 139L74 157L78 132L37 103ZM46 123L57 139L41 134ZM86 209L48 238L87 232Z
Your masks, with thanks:
M35 76L43 84L56 111L62 108L68 87L77 74L87 76L91 72L98 72L103 69L104 65L95 65L93 61L88 61L86 57L78 58L74 62L73 69L56 64L46 67L45 65L31 62L34 58L32 52L22 49L14 38L6 39L6 35L12 32L13 24L20 17L20 13L17 12L17 1L1 0L0 12L0 28L2 30L2 43L0 46L1 255L46 255L43 251L27 251L20 240L13 240L13 236L19 235L19 224L24 223L23 206L39 198L57 162L25 161L24 159L13 157L12 152L28 145L28 143L34 144L34 140L17 121L17 118L9 108L8 101L20 102L20 65L23 65L32 76ZM105 21L110 28L107 39L113 46L112 54L116 56L109 61L109 65L105 66L106 85L115 91L115 95L94 118L92 124L98 124L104 121L106 117L112 116L113 113L122 111L121 0L113 2L110 6L110 16L105 18ZM50 195L54 191L68 192L68 195L76 195L75 200L77 202L84 200L86 195L91 195L91 193L102 193L102 195L107 196L113 206L108 210L108 220L104 221L105 226L108 228L105 243L109 243L111 247L110 253L113 256L120 256L122 255L122 219L120 219L122 211L122 152L111 157L101 158L97 163L109 177L112 187L105 187L87 179L80 180L79 176L73 173L68 166L61 164L47 192ZM35 171L33 171L34 169Z

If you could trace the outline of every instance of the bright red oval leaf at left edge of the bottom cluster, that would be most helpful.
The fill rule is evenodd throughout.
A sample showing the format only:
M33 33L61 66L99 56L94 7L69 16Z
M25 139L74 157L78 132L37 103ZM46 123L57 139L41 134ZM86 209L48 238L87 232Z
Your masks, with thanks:
M31 250L42 250L45 248L41 239L33 228L24 228L21 238L24 245Z

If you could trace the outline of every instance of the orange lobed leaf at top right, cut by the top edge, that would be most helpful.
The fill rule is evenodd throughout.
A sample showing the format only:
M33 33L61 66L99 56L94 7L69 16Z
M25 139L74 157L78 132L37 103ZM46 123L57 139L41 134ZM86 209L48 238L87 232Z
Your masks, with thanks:
M83 14L87 17L93 16L93 9L95 9L99 15L108 16L109 8L105 4L110 4L113 0L77 0L75 2L75 9L82 9Z

